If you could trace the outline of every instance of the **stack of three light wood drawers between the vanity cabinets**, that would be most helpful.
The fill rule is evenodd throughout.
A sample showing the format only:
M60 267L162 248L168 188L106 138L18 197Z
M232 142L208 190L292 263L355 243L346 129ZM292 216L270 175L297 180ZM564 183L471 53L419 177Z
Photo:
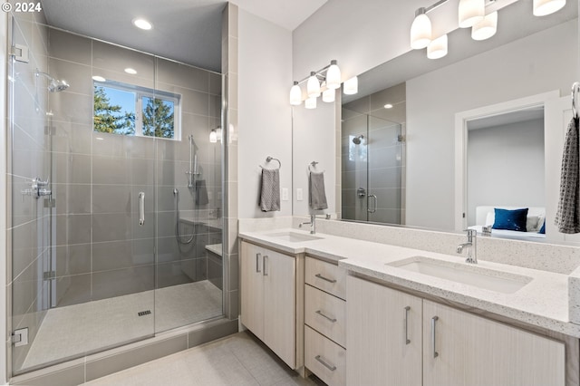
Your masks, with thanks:
M330 386L346 383L346 271L306 256L304 365Z

